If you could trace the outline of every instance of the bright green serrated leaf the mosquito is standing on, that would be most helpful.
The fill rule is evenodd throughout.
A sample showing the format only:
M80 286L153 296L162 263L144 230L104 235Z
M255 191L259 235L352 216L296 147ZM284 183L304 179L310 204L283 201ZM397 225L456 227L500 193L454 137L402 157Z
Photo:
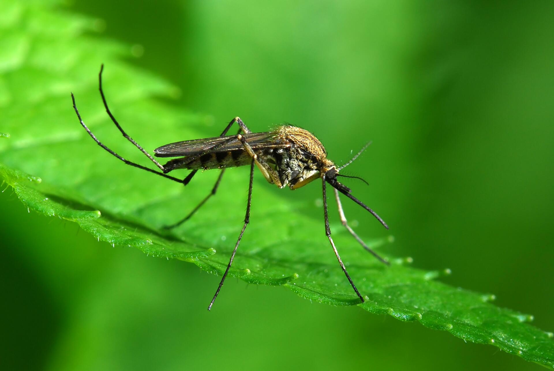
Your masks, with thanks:
M186 215L206 196L217 171L198 174L183 188L125 166L81 128L69 92L75 93L85 123L100 140L142 164L148 160L121 138L101 105L96 86L101 63L106 65L105 89L112 111L144 148L214 136L222 128L209 116L156 99L175 96L178 90L121 62L131 57L131 49L93 37L93 31L91 19L53 13L44 3L0 5L0 129L11 133L10 139L0 141L0 176L29 211L74 221L111 245L192 262L221 275L242 226L248 169L227 171L216 197L182 227L164 231L164 225ZM320 217L311 217L314 214ZM409 258L391 256L391 266L383 266L335 221L331 228L338 249L367 297L366 303L358 304L326 241L321 214L315 198L288 197L258 176L252 223L229 275L282 285L312 301L356 304L401 321L419 321L465 341L493 344L554 366L552 333L530 326L532 316L494 306L489 303L493 295L435 281L448 270L418 270L407 266ZM368 217L367 222L375 221ZM383 253L389 239L367 242ZM211 294L206 293L207 303Z

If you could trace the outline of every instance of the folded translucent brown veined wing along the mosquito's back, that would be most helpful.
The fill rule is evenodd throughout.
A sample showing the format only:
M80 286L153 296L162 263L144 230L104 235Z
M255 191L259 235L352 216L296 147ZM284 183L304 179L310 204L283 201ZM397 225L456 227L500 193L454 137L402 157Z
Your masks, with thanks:
M275 132L242 134L243 138L254 150L263 148L282 147L283 144L275 139ZM184 140L158 147L154 150L157 157L177 157L210 154L244 149L235 135L217 136L216 138Z

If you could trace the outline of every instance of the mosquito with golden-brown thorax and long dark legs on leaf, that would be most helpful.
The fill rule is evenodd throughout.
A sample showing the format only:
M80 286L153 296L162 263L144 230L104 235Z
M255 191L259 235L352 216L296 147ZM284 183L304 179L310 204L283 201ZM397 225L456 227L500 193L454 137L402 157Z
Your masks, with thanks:
M331 237L331 228L329 227L329 216L327 214L327 191L326 183L329 183L335 192L335 200L338 206L338 214L340 215L342 225L345 226L346 230L360 243L360 245L375 256L379 261L388 265L389 263L379 256L375 251L368 247L360 237L352 230L348 225L344 211L342 209L342 204L339 199L339 192L356 204L362 206L368 212L371 213L381 224L388 229L387 223L385 223L381 217L379 217L375 211L370 209L370 207L363 204L362 201L358 200L351 193L351 189L347 186L340 183L337 178L340 176L343 177L354 177L339 174L339 171L344 169L346 166L350 165L352 161L356 160L358 156L367 148L370 143L366 144L360 152L358 152L350 161L342 166L337 166L334 162L327 159L327 152L325 151L324 146L321 142L309 131L297 128L296 126L291 125L282 125L276 128L273 131L268 131L266 133L252 133L250 129L244 124L244 122L237 116L232 119L229 124L225 127L222 133L216 138L207 138L207 139L194 139L194 140L185 140L178 141L176 143L170 143L158 147L154 150L156 157L178 157L176 159L169 160L165 165L161 165L160 162L156 161L147 151L145 151L136 141L134 141L125 130L121 128L121 125L117 122L114 115L111 113L108 108L106 97L104 95L104 90L102 89L102 71L104 70L104 65L102 64L100 68L100 73L98 75L99 80L99 90L102 102L106 109L106 113L110 116L110 119L113 121L117 129L121 131L121 134L129 140L133 145L136 146L143 154L153 162L154 165L160 169L153 170L150 167L142 166L136 162L132 162L124 159L119 154L115 153L111 149L107 148L106 145L101 143L100 140L90 131L90 129L85 125L79 110L75 104L75 96L71 93L71 100L73 100L73 109L79 119L79 122L86 130L86 132L94 139L96 144L101 146L107 152L117 157L121 161L125 162L127 165L138 167L139 169L152 172L154 174L163 176L167 179L176 181L183 185L187 185L192 177L200 169L222 169L217 180L216 184L213 186L212 191L198 204L194 207L191 212L178 222L167 226L166 228L175 228L182 223L186 222L191 218L198 209L202 207L208 201L208 199L215 195L225 169L228 167L237 167L237 166L250 166L250 182L248 186L248 200L247 200L247 209L246 215L244 216L244 224L242 230L240 231L237 242L233 249L233 253L229 258L229 263L223 277L219 282L217 291L213 296L212 302L208 306L208 311L212 309L213 303L216 301L216 298L223 286L223 282L229 273L229 269L233 263L235 253L239 247L240 240L244 235L247 225L250 223L250 205L252 204L252 184L254 179L254 166L258 167L261 171L261 174L270 184L275 184L279 188L284 188L289 186L291 190L298 189L306 184L316 180L321 179L322 190L323 190L323 210L325 218L325 235L331 243L331 247L335 252L338 263L340 264L342 271L345 273L350 286L356 292L358 298L361 302L365 302L362 295L356 288L356 285L350 278L348 271L346 270L345 265L342 263L340 255L338 255L335 242ZM237 124L239 126L238 132L236 135L226 135L230 128ZM192 170L184 179L179 179L177 177L168 175L168 172L171 172L176 169L188 169ZM361 178L358 178L361 179ZM364 181L363 179L361 179ZM365 181L364 181L365 182ZM366 182L367 184L367 182Z

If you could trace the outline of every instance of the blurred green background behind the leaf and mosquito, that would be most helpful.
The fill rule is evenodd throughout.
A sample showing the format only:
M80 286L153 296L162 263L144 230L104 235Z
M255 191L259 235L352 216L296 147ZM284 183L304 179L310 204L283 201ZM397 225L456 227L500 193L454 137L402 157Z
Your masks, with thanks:
M551 1L99 0L60 11L140 45L129 62L178 85L171 104L211 115L213 128L235 115L254 131L287 121L339 163L372 140L349 169L371 184L356 196L391 226L388 251L448 267L443 281L554 330ZM286 202L320 189L280 192ZM355 206L347 216L366 235L387 234ZM208 313L218 277L99 244L29 215L9 191L0 208L5 369L539 369L236 279Z

